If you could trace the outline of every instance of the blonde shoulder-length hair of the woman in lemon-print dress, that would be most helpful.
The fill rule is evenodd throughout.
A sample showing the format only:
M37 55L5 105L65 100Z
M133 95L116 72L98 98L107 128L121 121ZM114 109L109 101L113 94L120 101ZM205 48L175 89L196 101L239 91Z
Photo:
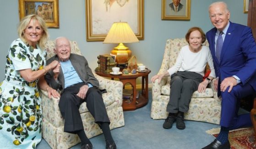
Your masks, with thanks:
M18 26L18 36L22 39L23 42L27 44L27 39L25 38L24 31L27 28L29 22L33 20L33 23L35 21L38 21L39 25L41 26L43 32L42 36L38 41L38 45L41 48L41 50L44 50L45 48L45 43L48 41L48 31L47 31L47 26L44 22L44 19L40 17L39 15L27 15L25 16L22 21L20 21L19 26Z

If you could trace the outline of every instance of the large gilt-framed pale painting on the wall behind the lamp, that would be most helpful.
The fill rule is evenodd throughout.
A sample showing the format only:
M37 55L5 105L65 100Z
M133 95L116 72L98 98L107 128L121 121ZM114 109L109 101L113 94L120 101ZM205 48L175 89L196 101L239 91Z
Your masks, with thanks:
M86 40L103 41L114 22L127 22L144 39L144 0L85 0Z

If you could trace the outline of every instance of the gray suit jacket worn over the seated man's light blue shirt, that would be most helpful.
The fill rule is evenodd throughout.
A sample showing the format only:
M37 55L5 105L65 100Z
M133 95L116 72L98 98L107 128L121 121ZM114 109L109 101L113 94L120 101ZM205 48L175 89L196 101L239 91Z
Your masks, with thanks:
M98 80L94 77L93 72L91 70L91 68L88 66L88 62L85 59L85 57L80 56L80 55L76 55L76 54L72 54L69 57L71 64L73 65L73 67L75 68L78 76L81 78L81 80L83 82L87 83L91 83L94 87L99 87L99 82ZM47 65L51 62L53 62L54 60L60 62L59 58L57 55L55 55L54 57L51 57L49 60L47 60ZM63 89L65 87L65 79L64 79L64 75L62 70L60 69L60 74L58 77L58 82L56 82L54 80L54 72L53 71L49 71L45 76L45 80L46 82L49 84L50 87L54 88L54 89L60 89L61 92L63 92Z

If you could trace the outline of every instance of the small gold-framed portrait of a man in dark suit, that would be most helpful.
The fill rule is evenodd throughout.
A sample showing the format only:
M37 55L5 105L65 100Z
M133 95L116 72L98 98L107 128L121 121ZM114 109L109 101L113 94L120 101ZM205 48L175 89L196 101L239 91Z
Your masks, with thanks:
M190 20L191 0L162 0L162 20Z

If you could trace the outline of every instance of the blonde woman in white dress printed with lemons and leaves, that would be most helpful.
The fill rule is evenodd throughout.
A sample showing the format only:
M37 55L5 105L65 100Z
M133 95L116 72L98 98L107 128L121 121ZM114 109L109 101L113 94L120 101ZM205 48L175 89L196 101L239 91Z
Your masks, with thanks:
M47 91L49 97L60 96L44 80L44 74L58 62L46 66L48 33L40 16L24 17L18 35L6 56L5 79L0 83L0 148L35 149L42 138L38 88Z

